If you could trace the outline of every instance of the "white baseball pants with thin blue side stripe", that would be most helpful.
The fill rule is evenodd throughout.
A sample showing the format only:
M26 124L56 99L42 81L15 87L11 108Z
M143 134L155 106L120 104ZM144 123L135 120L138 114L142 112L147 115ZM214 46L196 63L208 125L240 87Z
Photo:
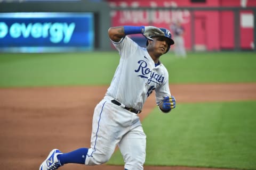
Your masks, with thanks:
M139 116L111 103L112 99L105 96L94 109L91 148L88 150L85 165L106 163L118 145L125 169L143 169L146 135Z

